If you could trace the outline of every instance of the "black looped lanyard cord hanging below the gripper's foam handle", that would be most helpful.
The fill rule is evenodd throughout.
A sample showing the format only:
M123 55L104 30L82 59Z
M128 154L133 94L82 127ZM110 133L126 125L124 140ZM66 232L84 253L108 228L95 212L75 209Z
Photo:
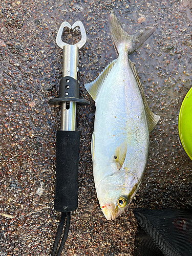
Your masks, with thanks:
M65 227L65 230L64 230L64 233L63 233L63 236L62 236L62 240L61 240L59 249L57 251L57 247L58 247L59 241L61 239L62 230L63 230L63 226L65 224L65 220L66 220L66 227ZM61 255L62 249L63 249L63 247L66 243L67 237L68 237L69 228L70 228L70 220L71 220L70 212L62 212L60 223L59 223L57 233L56 233L56 236L55 236L55 242L54 242L54 245L53 245L51 256L56 256L56 255L60 256ZM56 254L56 251L57 251L57 254Z

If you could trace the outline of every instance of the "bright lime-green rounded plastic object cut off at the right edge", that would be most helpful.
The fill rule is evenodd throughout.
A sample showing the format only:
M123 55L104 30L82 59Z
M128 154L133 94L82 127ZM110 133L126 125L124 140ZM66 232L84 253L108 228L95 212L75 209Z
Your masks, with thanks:
M186 94L179 113L179 137L192 160L192 87Z

